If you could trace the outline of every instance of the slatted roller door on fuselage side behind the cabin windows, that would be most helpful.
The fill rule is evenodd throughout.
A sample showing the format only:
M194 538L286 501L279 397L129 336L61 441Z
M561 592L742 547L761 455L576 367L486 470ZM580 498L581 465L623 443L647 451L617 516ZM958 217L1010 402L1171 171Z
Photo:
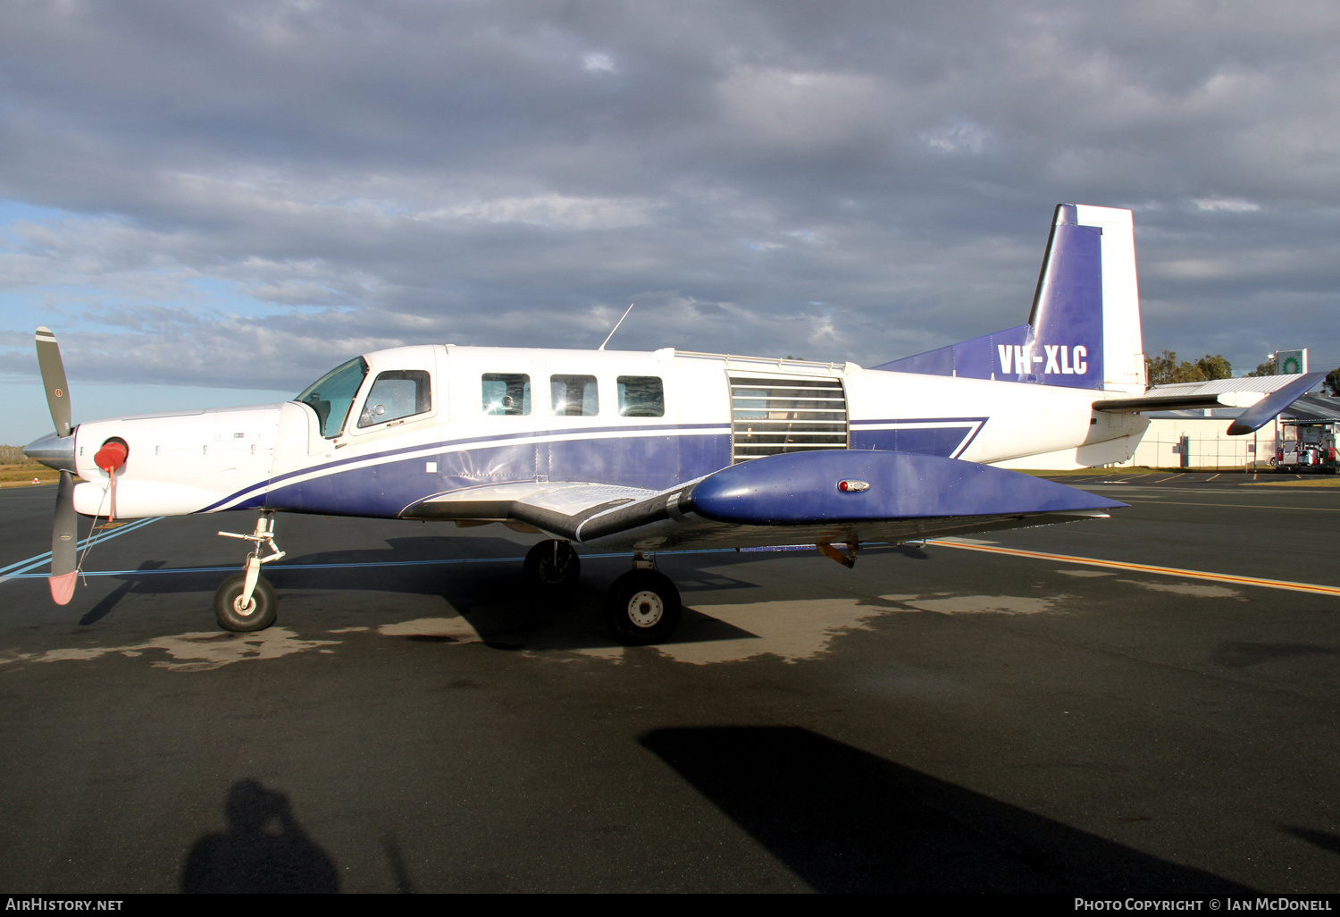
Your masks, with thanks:
M847 448L842 379L730 377L730 460Z

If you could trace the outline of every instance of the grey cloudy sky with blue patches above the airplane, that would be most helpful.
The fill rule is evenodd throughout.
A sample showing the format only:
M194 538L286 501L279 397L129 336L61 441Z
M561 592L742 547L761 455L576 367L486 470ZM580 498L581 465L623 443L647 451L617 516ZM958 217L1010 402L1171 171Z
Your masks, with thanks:
M0 4L0 442L419 342L874 365L1135 210L1146 350L1340 363L1340 5Z

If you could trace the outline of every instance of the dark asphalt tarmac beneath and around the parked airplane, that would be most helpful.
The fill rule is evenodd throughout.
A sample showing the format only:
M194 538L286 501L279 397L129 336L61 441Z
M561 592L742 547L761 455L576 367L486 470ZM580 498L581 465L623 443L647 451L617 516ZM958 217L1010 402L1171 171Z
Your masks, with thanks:
M253 515L127 524L56 607L0 491L0 890L1340 890L1340 489L1063 480L1131 508L661 555L636 649L501 526L280 516L236 635Z

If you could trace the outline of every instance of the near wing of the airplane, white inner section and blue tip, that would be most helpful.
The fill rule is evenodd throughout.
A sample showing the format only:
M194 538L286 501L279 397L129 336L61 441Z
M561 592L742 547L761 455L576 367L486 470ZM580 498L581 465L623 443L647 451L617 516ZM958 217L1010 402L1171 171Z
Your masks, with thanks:
M477 488L413 519L512 520L610 550L906 542L1103 516L1124 503L976 463L821 449L753 458L661 492L596 484Z

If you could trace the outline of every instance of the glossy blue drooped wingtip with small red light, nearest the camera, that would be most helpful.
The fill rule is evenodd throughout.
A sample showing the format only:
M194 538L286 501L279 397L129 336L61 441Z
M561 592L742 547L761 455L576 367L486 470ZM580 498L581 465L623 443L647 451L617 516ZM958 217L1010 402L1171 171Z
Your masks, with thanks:
M717 522L829 522L1080 512L1124 503L1018 472L911 452L824 449L765 456L710 475L681 509Z

